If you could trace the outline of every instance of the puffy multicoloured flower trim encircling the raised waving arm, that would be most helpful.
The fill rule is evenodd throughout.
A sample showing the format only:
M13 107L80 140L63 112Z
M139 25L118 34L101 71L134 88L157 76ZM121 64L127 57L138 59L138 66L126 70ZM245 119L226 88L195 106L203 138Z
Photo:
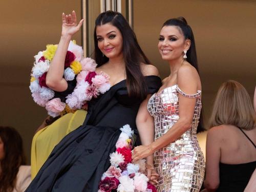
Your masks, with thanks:
M110 88L109 76L103 72L98 75L95 72L97 66L95 61L91 58L83 58L82 47L76 45L73 40L70 41L66 54L63 78L67 81L72 81L76 78L76 88L72 94L66 97L66 102L54 97L55 92L46 84L46 75L57 46L47 45L45 51L39 51L34 56L35 61L29 86L33 100L38 105L44 106L48 111L48 115L52 117L70 112L74 113L75 110L81 109L92 97L97 97L99 93L104 93Z

